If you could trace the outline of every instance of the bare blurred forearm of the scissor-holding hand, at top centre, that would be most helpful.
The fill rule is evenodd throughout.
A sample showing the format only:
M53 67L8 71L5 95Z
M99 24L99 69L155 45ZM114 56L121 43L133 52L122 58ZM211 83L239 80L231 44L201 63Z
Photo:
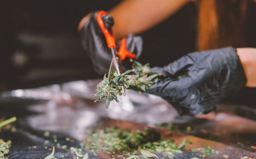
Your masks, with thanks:
M108 11L115 20L114 35L120 39L130 33L144 32L174 14L189 1L191 0L124 0ZM87 15L80 21L78 31L89 17Z

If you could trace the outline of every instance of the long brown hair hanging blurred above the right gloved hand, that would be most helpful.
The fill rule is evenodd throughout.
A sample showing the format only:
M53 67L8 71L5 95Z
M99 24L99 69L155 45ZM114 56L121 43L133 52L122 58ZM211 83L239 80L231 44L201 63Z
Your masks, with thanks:
M245 47L249 0L198 1L197 49Z

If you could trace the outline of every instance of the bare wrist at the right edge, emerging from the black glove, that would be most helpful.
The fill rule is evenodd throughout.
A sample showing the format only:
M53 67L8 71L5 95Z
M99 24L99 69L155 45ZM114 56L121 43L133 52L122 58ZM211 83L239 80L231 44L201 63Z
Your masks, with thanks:
M247 78L247 87L256 87L256 48L237 48Z

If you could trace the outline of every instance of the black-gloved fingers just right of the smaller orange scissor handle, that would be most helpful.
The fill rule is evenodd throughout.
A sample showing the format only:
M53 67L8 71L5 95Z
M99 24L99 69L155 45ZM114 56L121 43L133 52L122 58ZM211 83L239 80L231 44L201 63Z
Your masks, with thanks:
M138 59L142 53L143 39L141 36L135 36L133 34L127 35L126 49L133 54L136 54Z

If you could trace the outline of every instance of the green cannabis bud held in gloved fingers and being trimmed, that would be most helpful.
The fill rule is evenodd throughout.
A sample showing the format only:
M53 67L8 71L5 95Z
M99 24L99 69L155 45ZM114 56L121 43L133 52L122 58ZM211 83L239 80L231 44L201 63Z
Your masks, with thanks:
M105 99L105 108L108 109L110 102L115 100L119 102L117 95L121 95L122 86L125 89L133 89L138 92L147 93L148 87L157 82L158 73L150 71L149 64L142 65L137 61L133 61L133 69L127 70L121 75L116 72L110 72L109 78L104 75L103 80L97 85L96 101Z

